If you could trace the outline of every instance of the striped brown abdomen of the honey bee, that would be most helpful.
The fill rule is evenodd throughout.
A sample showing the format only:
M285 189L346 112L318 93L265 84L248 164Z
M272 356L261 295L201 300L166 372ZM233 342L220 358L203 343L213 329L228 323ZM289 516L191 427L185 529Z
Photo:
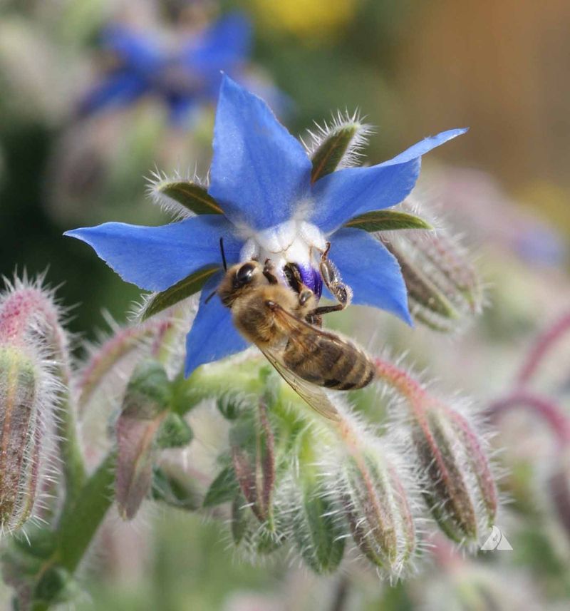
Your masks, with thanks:
M375 376L373 363L361 349L327 337L315 338L309 348L291 342L284 360L299 377L328 389L361 389Z

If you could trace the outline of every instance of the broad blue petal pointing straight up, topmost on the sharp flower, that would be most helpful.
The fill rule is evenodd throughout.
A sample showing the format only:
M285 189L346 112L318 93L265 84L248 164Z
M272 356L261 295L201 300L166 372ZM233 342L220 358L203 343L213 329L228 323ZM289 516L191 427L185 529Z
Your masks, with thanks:
M289 220L309 190L311 161L269 107L224 76L209 193L235 223L265 229Z

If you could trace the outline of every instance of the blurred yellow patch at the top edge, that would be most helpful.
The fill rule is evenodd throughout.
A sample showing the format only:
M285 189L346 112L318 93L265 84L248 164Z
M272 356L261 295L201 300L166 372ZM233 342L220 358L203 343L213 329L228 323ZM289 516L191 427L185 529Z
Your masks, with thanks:
M262 26L307 42L332 38L351 21L359 0L250 0Z

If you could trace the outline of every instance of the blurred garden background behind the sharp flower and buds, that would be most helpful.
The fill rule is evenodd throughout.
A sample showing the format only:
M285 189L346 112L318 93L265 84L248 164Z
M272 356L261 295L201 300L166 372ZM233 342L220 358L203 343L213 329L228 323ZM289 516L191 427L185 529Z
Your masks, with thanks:
M177 60L157 81L161 53ZM363 343L373 325L378 346L408 350L483 404L507 394L525 352L570 312L570 4L0 0L0 272L48 269L81 337L105 328L103 309L124 321L140 292L62 233L167 220L145 177L207 173L219 68L266 98L294 134L360 109L376 127L369 163L470 126L425 159L418 193L477 258L488 287L482 317L452 340L381 314L337 324ZM564 414L569 343L556 344L537 381ZM338 609L567 608L570 508L556 513L544 493L560 448L526 411L507 420L498 446L516 476L505 483L514 551L502 572L485 573L484 560L454 560L451 570L440 559L427 589L356 575L350 606ZM84 607L283 611L333 609L331 592L341 597L338 578L237 562L224 530L153 508L135 525L111 520ZM445 606L449 592L455 607ZM485 606L499 599L505 606Z

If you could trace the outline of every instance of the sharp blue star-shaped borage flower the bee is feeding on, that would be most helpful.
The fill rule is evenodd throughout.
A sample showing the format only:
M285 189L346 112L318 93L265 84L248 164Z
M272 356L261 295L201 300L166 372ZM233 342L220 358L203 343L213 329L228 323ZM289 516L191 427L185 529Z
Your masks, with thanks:
M248 345L219 299L205 303L222 278L220 237L229 265L269 258L284 280L284 266L294 263L319 295L318 257L331 242L329 258L353 290L353 303L388 310L410 323L398 262L373 235L346 225L402 202L418 179L421 155L465 131L445 131L384 163L343 168L315 180L318 173L299 140L264 101L225 76L209 187L202 194L207 205L199 210L214 214L162 227L109 222L66 235L87 242L123 279L149 291L162 292L190 274L207 272L187 335L186 375Z

